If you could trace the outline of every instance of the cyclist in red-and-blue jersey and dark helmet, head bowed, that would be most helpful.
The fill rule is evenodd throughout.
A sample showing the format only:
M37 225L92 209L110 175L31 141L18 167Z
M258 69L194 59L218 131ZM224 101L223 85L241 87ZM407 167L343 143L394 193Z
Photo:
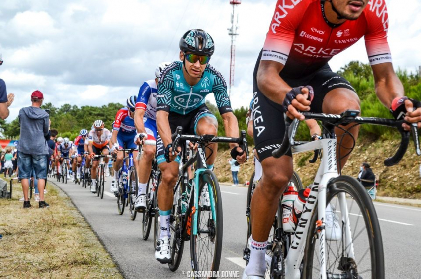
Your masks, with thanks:
M112 148L111 152L117 154L117 158L113 164L114 176L111 182L111 192L117 192L118 186L118 170L123 164L123 151L119 149L123 148L137 148L134 143L136 136L135 127L135 108L136 108L136 96L130 96L126 101L126 107L123 107L115 115L115 123L113 124L113 130L111 135ZM134 158L137 156L137 151L133 152ZM134 160L135 168L137 168L137 160Z

